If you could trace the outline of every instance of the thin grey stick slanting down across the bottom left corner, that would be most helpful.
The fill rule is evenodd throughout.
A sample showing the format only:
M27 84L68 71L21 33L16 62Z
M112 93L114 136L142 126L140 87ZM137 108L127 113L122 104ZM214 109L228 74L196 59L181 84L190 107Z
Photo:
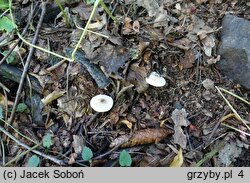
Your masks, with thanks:
M15 143L17 143L18 145L24 147L25 149L30 149L31 148L28 145L26 145L23 142L20 142L18 139L16 139L13 135L11 135L8 131L6 131L2 126L0 126L0 131L3 132L5 135L7 135L9 138L11 138ZM58 160L54 156L44 154L44 153L42 153L40 151L37 151L37 150L32 150L32 152L39 155L39 156L41 156L41 157L43 157L43 158L45 158L45 159L49 159L50 161L53 161L54 163L56 163L58 165L65 165L64 161Z

